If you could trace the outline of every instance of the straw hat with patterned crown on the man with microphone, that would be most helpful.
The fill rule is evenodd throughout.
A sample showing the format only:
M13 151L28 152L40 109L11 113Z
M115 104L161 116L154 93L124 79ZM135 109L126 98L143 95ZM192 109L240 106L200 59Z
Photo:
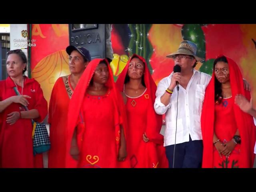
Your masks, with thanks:
M172 56L177 55L177 54L185 54L185 55L192 55L196 59L196 61L202 61L204 60L203 58L200 58L196 56L196 49L197 46L194 42L192 41L182 41L180 43L180 46L178 48L178 51L171 53L170 55L166 57L172 58Z

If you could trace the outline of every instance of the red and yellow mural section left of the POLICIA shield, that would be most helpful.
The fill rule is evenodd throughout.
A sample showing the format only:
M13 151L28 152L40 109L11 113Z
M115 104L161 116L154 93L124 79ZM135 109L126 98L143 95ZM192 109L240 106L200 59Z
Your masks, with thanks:
M31 77L41 85L48 105L56 80L70 74L68 68L68 24L32 24Z

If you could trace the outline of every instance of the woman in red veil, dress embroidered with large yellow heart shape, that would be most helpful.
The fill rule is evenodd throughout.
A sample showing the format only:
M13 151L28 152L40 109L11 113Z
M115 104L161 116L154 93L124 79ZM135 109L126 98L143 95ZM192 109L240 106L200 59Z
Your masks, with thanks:
M66 167L116 168L126 158L124 102L106 59L92 60L68 110Z

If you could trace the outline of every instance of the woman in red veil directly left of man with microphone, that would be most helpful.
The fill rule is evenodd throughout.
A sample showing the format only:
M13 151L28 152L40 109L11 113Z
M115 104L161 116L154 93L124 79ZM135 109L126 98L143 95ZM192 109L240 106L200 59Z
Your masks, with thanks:
M146 61L133 54L116 82L125 94L128 156L132 168L168 168L162 116L154 111L156 84Z

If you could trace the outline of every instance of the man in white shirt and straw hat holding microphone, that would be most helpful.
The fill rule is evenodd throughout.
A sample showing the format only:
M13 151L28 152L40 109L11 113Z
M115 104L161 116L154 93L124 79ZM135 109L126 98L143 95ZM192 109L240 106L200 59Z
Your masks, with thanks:
M164 146L170 168L200 168L202 164L201 112L211 76L194 69L203 60L196 50L194 42L182 41L178 50L167 56L181 72L163 78L156 90L154 109L166 115ZM250 89L245 80L244 86Z

